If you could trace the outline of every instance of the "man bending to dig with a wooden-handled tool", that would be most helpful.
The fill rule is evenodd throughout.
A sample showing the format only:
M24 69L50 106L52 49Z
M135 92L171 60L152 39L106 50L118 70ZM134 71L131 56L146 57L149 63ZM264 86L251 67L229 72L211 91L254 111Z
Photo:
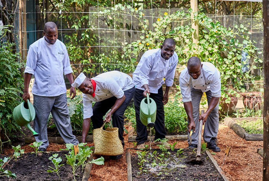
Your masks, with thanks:
M220 72L209 62L201 62L198 57L190 57L179 77L182 102L188 116L189 132L193 129L192 144L189 148L197 148L199 121L203 121L203 139L207 148L220 152L217 146L219 128ZM199 116L199 105L203 93L206 93L208 108ZM195 132L195 130L197 130ZM189 136L189 133L188 133Z

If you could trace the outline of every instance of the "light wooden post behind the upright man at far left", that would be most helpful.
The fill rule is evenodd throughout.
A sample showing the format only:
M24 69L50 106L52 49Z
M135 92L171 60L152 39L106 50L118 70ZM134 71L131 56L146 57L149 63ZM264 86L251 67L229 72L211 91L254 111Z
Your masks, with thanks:
M19 50L22 61L26 60L27 56L26 0L19 0Z

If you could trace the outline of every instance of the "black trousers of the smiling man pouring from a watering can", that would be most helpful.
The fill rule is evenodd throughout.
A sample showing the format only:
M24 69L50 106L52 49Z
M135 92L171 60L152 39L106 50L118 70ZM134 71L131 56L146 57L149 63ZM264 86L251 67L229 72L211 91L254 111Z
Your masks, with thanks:
M134 103L135 103L135 118L136 118L136 142L137 144L142 144L147 141L147 127L142 124L139 118L140 103L143 96L143 90L135 89ZM163 89L162 87L158 90L158 94L150 93L150 98L152 98L157 105L156 121L155 121L155 137L154 140L165 138L166 131L164 128L164 103L163 103Z

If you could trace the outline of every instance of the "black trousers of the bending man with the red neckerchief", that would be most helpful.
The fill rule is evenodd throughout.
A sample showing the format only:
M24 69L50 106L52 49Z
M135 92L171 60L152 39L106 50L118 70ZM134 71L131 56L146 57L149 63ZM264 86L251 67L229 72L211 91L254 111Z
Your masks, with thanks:
M119 138L122 141L122 145L124 146L124 138L123 138L123 126L124 126L124 112L129 105L131 99L133 98L135 93L135 87L124 91L125 100L122 105L113 113L112 115L112 124L113 127L119 128ZM93 115L91 117L93 128L100 128L104 124L103 116L108 112L108 110L115 104L117 98L115 96L105 99L100 102L96 102L92 107Z

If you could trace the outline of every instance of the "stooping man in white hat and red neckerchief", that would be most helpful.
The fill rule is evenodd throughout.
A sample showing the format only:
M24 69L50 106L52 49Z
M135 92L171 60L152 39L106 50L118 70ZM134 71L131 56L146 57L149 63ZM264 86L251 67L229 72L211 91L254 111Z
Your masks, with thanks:
M109 122L112 118L113 127L118 128L119 139L124 146L123 115L135 91L132 78L119 71L105 72L94 78L87 78L80 73L72 86L83 92L82 142L86 142L91 120L94 129L101 128L103 116L111 109L105 121ZM92 107L93 101L96 103ZM111 156L112 159L121 157L122 155Z

